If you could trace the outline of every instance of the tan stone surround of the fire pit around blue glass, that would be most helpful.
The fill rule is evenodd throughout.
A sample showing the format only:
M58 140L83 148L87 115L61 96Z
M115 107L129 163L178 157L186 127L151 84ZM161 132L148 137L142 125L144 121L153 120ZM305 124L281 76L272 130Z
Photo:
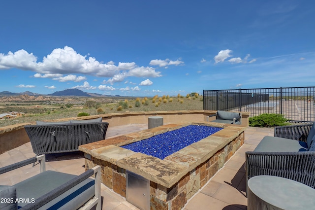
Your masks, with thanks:
M223 127L164 160L120 147L188 125ZM108 140L81 145L85 167L101 166L101 181L126 198L126 170L150 180L151 210L180 210L244 144L243 127L220 123L168 124Z

